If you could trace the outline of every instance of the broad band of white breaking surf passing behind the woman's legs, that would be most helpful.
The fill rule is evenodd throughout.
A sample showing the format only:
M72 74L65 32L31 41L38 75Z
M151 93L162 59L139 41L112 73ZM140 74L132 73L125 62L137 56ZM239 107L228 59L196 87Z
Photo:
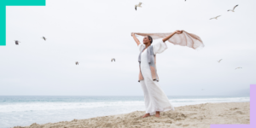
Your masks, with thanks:
M170 100L174 107L207 102L249 102L249 97L227 98L183 98ZM106 101L106 102L15 102L0 105L0 113L61 110L76 108L143 107L144 101Z

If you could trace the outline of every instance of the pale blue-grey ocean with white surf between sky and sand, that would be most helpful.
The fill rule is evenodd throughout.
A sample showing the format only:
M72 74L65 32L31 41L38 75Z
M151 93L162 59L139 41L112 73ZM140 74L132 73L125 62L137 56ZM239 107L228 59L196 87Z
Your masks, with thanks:
M168 96L174 107L250 102L250 96ZM144 111L143 96L0 96L0 128Z

